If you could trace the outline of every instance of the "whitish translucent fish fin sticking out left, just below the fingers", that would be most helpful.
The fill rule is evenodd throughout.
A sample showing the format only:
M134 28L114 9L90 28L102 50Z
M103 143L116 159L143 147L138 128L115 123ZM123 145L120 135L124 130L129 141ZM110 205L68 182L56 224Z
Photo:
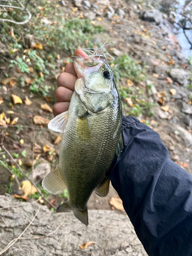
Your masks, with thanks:
M48 128L58 133L65 133L67 122L68 122L68 111L63 112L60 115L53 118L48 123Z

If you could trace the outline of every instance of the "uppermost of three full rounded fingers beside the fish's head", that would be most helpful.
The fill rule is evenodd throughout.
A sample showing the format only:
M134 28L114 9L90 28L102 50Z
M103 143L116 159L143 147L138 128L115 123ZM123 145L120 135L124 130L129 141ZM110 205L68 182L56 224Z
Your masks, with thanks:
M57 86L66 87L72 91L74 91L75 81L77 77L70 73L61 73L57 78Z

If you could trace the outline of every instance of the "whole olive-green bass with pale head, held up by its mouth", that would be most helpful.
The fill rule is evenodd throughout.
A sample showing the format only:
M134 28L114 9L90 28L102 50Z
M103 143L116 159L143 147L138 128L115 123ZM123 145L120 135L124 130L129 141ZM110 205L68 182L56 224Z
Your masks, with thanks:
M73 56L77 80L69 110L48 124L63 137L59 162L42 181L52 194L68 190L68 200L56 211L73 211L85 225L91 194L108 194L110 169L123 150L121 98L112 69L105 51L89 53Z

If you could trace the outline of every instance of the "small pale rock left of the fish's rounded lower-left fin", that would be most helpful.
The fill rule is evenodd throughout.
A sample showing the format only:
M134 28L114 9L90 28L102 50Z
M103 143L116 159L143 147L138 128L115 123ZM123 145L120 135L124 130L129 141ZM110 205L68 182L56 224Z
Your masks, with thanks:
M51 167L48 162L39 163L37 167L33 170L33 181L35 184L40 183L44 177L51 172ZM32 173L29 175L32 179Z

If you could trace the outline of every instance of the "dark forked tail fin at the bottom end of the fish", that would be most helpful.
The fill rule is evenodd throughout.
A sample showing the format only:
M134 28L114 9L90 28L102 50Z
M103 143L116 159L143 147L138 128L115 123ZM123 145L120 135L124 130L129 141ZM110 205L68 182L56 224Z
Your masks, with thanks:
M86 226L89 224L88 221L88 207L84 210L77 210L69 204L69 200L57 207L56 212L73 211L75 217L80 220Z

